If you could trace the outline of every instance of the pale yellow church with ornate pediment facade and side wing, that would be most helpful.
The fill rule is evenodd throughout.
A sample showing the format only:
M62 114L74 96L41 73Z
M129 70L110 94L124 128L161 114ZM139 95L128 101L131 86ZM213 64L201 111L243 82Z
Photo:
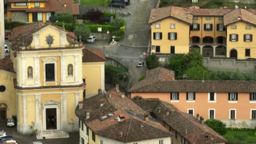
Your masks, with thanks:
M78 102L104 89L102 52L83 50L74 33L43 22L14 28L9 40L11 56L0 59L1 117L16 116L21 134L32 133L34 125L38 139L78 131Z

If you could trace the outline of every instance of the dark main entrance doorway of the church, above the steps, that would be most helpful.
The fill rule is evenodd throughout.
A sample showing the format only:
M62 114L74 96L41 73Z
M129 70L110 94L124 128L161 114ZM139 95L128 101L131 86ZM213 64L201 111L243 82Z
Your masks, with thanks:
M45 109L46 130L57 129L56 108Z

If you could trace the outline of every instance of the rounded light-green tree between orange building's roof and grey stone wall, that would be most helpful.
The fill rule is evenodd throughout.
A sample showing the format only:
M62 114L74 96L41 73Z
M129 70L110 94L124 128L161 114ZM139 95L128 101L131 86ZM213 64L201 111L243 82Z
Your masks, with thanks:
M208 69L201 66L191 67L185 71L185 74L189 80L210 80Z

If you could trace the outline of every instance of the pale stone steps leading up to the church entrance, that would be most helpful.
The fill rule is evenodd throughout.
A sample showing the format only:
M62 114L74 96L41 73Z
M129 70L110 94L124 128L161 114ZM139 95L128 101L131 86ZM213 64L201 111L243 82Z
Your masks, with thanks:
M69 137L68 133L62 130L46 130L37 134L37 139L59 139Z

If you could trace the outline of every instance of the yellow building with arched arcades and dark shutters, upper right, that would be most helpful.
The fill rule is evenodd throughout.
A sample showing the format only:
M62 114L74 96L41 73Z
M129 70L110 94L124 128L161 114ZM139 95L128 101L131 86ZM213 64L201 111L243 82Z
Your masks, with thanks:
M199 50L203 57L256 58L252 37L255 14L255 9L196 6L152 9L149 17L151 52L161 55ZM231 34L240 35L239 41L231 40Z

